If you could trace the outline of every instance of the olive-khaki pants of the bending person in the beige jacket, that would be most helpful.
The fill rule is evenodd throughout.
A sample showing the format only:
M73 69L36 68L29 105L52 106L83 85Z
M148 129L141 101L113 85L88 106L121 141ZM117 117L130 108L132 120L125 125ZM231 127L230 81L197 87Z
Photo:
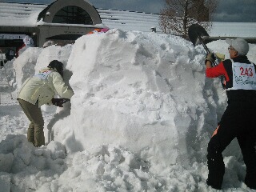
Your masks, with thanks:
M30 126L27 130L27 140L32 142L34 146L45 145L45 136L43 133L43 118L41 108L38 107L38 102L33 105L18 98L19 105L30 120Z

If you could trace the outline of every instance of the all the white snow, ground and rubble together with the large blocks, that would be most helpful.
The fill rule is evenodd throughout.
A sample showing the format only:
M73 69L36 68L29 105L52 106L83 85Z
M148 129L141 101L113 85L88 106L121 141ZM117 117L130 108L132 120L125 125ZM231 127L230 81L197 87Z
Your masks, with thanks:
M207 46L228 55L225 41ZM255 51L250 45L253 62ZM205 54L182 38L124 30L25 50L6 64L14 99L0 86L1 191L216 191L206 185L206 147L226 94L205 78ZM54 141L35 148L15 98L54 59L74 96L63 109L42 106L46 141ZM243 182L238 143L223 154L222 191L254 191Z

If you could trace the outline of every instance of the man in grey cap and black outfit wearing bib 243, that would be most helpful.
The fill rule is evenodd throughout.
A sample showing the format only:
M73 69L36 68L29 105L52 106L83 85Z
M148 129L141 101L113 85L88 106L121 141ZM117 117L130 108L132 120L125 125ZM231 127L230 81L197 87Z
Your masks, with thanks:
M226 43L230 45L230 59L213 67L214 54L206 56L206 77L224 75L228 98L226 110L208 144L206 182L214 189L222 188L225 172L222 151L237 138L246 164L246 186L256 190L256 66L246 57L249 45L244 39L226 39Z

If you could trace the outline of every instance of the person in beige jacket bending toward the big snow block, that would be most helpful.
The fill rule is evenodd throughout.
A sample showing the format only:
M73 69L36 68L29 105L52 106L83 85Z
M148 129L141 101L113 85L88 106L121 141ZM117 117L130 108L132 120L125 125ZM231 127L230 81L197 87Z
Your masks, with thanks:
M73 96L73 91L63 82L63 64L57 60L50 62L47 68L39 71L34 77L28 78L18 93L18 102L26 117L30 120L27 139L34 146L45 145L43 132L44 120L40 106L44 104L62 107L68 98ZM54 98L58 94L62 98Z

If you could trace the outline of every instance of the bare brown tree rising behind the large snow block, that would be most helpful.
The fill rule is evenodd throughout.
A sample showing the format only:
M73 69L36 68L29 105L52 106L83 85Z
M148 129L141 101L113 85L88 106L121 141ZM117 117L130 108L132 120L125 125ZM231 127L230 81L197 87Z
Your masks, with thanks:
M188 38L188 28L194 23L209 30L218 1L166 0L166 8L160 12L160 27L164 33L180 35L182 38Z

